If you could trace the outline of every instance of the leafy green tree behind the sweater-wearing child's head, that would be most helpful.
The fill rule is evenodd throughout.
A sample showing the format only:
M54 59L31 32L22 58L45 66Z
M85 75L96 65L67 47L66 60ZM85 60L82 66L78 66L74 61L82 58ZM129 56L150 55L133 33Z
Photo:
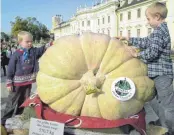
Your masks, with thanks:
M23 19L19 16L15 18L15 22L11 22L12 35L17 37L19 31L28 31L33 35L34 41L39 41L41 38L49 38L49 30L47 27L40 23L35 17L28 17Z

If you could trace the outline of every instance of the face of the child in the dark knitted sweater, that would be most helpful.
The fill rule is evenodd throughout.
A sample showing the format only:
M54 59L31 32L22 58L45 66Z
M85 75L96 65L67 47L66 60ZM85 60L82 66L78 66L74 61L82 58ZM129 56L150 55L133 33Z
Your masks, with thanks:
M29 49L32 47L32 42L33 42L32 37L29 35L25 35L22 41L19 42L19 44L21 45L21 47Z

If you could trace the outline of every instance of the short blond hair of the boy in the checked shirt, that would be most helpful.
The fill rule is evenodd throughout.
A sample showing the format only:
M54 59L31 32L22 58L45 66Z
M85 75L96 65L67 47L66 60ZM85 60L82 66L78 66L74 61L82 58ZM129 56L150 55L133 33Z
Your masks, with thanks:
M162 19L165 19L167 17L167 7L164 3L155 2L152 5L150 5L147 10L153 15L159 14Z

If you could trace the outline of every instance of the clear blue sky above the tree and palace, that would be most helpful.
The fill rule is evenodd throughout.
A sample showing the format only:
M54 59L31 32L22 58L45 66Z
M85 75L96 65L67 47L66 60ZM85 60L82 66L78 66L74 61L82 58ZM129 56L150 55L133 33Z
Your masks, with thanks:
M23 19L36 17L50 30L52 16L60 14L64 21L69 20L76 13L77 7L85 4L91 7L93 2L94 0L1 0L1 31L10 34L10 22L15 21L16 16Z

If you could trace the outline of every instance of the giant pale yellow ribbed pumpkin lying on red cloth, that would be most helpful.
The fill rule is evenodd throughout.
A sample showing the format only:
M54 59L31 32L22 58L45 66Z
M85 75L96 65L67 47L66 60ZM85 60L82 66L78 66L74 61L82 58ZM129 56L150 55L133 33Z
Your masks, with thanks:
M59 38L39 60L37 91L53 110L109 120L139 112L153 96L147 67L115 38L91 32ZM111 92L116 78L130 78L135 95L120 101Z

